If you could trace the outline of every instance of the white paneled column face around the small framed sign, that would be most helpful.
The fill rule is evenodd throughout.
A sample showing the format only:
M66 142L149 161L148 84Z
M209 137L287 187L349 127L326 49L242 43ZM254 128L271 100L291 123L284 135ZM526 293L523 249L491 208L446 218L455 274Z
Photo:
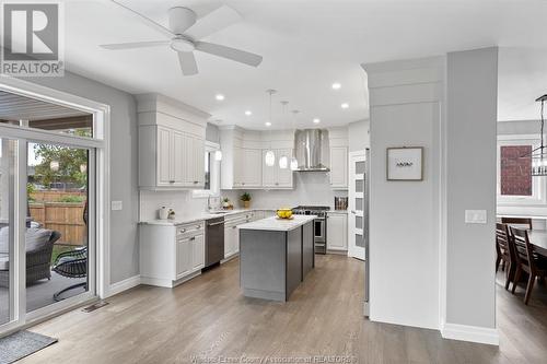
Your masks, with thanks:
M374 321L439 329L444 67L444 57L363 64L370 92L370 319ZM424 149L423 180L386 180L391 146Z

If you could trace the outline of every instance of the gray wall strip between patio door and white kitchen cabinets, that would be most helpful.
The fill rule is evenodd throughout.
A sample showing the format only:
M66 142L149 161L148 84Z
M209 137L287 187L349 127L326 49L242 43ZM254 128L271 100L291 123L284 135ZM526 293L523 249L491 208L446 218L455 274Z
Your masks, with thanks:
M124 202L121 211L110 211L110 283L138 274L138 131L133 96L70 72L63 78L28 81L110 105L110 199Z

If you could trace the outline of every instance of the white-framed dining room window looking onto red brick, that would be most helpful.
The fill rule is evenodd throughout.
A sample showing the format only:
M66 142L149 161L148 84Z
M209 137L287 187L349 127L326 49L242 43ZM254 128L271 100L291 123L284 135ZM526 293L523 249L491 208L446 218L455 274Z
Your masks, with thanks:
M533 160L526 156L537 145L535 138L498 141L498 202L545 203L543 177L532 177Z

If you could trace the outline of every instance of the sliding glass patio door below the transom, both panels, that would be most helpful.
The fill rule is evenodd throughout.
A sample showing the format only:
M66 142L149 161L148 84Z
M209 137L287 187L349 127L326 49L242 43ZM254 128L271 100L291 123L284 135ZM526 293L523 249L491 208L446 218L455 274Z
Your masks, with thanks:
M95 297L95 155L0 139L0 333Z

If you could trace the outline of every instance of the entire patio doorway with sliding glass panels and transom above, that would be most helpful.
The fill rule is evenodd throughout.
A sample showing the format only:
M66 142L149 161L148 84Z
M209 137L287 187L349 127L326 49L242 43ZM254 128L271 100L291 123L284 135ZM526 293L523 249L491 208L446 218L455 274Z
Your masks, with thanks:
M68 107L4 86L0 334L97 300L104 292L97 277L105 275L104 259L97 259L105 240L97 213L104 211L104 109Z

